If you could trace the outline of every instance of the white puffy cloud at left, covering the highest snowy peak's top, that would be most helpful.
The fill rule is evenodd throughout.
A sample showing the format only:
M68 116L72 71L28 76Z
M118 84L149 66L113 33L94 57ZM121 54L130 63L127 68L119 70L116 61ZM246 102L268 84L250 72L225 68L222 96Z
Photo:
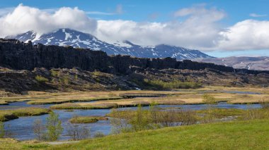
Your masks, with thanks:
M62 7L40 10L20 4L11 13L0 17L0 36L14 35L28 30L45 33L60 27L70 27L84 32L96 30L96 20L88 18L79 8Z

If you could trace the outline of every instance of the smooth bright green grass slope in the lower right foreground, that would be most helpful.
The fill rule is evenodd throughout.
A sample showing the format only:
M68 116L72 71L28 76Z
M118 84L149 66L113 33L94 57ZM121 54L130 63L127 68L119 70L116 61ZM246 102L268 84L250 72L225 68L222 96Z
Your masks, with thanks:
M268 149L269 120L167 127L49 149Z

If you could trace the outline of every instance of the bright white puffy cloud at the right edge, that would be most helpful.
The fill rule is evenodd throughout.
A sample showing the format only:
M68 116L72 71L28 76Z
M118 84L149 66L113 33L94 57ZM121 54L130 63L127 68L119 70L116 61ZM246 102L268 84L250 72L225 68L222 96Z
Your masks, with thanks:
M269 21L244 20L219 33L218 49L269 49Z

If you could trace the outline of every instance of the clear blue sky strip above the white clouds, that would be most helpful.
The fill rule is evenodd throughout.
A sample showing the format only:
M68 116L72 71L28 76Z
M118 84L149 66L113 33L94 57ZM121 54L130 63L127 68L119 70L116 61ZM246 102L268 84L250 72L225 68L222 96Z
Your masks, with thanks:
M25 6L33 6L42 9L47 8L60 8L66 7L79 7L84 11L98 11L103 13L114 13L118 5L122 6L123 13L118 15L95 15L90 14L91 17L101 18L105 20L135 20L135 21L166 21L172 19L172 13L180 8L187 8L195 4L207 4L224 10L228 17L224 20L224 23L231 25L240 20L246 20L251 18L249 14L256 13L260 15L267 15L262 18L256 18L258 20L269 19L269 2L268 0L214 0L214 1L201 1L201 0L188 0L188 1L127 1L127 0L107 0L107 1L66 1L66 0L46 0L40 2L36 0L12 0L5 1L0 4L0 8L16 7L18 4ZM156 18L151 18L152 14L156 14Z

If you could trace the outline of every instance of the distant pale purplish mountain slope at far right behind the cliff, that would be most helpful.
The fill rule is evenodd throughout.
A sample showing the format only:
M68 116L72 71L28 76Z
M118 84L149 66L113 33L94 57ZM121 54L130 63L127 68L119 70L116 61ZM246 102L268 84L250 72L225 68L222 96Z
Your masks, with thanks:
M269 57L198 58L195 61L248 70L269 70Z

